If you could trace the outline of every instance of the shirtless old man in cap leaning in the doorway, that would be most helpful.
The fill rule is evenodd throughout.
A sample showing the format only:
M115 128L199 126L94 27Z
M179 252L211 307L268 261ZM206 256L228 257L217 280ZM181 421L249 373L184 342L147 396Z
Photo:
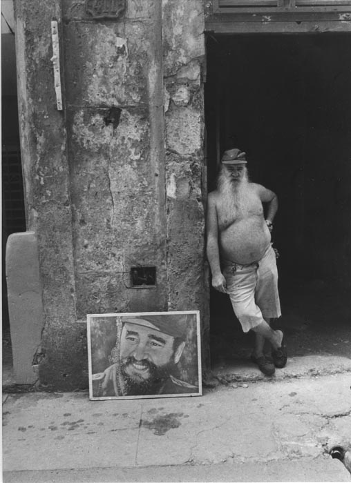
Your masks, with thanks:
M207 207L212 286L229 295L243 331L254 331L252 361L265 375L273 375L287 362L283 333L270 326L271 319L281 316L270 233L278 199L271 190L249 182L245 152L227 150L221 161L217 189L209 193ZM264 353L266 341L271 355Z

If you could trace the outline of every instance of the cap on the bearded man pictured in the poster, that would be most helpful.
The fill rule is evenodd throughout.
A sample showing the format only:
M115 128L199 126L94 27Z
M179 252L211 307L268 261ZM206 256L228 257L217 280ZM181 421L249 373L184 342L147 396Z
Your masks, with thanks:
M185 339L187 335L187 315L185 314L124 316L122 317L122 322L149 327L154 331L162 332L172 337L180 337L181 339Z

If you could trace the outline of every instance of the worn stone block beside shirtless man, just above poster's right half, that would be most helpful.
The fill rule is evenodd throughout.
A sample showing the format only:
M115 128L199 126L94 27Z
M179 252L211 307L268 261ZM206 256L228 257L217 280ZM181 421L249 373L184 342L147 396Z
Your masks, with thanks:
M167 155L169 307L200 308L205 297L205 217L200 160Z

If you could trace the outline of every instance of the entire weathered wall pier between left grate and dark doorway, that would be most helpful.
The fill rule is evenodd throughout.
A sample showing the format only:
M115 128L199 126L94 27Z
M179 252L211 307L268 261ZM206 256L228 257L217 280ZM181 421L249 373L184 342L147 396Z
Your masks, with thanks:
M85 0L15 7L28 230L43 284L40 384L87 385L87 313L200 310L206 348L202 0L126 0L108 19ZM132 290L133 266L155 266L155 288Z

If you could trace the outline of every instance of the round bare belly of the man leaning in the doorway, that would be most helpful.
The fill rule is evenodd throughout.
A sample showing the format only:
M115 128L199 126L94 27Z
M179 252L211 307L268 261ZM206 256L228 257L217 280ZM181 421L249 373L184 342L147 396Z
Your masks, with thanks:
M222 262L252 264L260 260L271 242L271 234L263 217L253 216L234 221L220 232Z

